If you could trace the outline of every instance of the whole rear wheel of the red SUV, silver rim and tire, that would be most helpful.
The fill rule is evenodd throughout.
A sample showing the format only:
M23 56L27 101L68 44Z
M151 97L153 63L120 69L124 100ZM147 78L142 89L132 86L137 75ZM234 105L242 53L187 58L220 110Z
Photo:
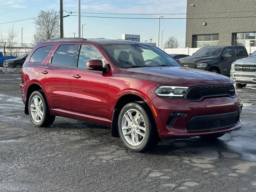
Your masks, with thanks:
M30 95L28 113L32 123L38 127L47 127L55 120L55 116L50 114L45 97L39 91L34 91Z

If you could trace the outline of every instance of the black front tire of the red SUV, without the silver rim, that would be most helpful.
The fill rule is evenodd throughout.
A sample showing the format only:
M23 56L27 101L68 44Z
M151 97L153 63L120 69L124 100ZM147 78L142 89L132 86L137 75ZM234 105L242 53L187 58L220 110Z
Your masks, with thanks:
M142 140L140 141L140 144L138 144L137 146L133 146L132 144L129 144L124 138L124 134L122 132L122 120L124 118L124 114L126 114L126 112L128 112L129 110L137 110L143 118L142 124L145 127L144 138L143 139L140 138ZM130 128L127 130L127 132L133 131L134 134L135 132L137 134L137 131L139 132L141 131L141 130L137 130L137 131L136 130L137 128ZM122 139L126 147L134 152L142 152L144 150L149 150L154 146L156 146L160 140L158 136L157 128L155 127L154 117L152 116L152 113L148 110L148 108L145 106L144 102L128 103L122 108L118 117L118 132L119 132L120 138ZM132 134L131 134L131 137L132 137ZM138 134L138 137L140 137L139 134Z

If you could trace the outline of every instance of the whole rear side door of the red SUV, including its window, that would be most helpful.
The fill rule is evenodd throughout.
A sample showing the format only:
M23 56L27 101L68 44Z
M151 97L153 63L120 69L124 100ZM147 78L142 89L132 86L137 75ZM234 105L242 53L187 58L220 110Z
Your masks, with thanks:
M58 44L48 65L41 68L39 81L46 91L51 109L72 111L71 72L77 44Z

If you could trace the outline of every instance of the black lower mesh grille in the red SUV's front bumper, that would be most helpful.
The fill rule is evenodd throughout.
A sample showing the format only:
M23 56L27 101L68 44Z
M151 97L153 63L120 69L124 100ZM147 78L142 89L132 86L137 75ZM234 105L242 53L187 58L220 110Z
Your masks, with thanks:
M234 116L234 114L236 116ZM204 120L204 116L197 116L196 120L193 118L188 122L186 126L187 131L202 131L202 130L211 130L211 129L218 129L218 128L225 128L229 126L234 126L238 123L238 113L232 114L231 117L225 117L225 114L217 115L216 119L212 118L211 120ZM228 114L230 116L230 114ZM216 115L212 115L214 117ZM223 116L223 118L219 118ZM211 116L208 116L211 117ZM202 119L202 121L200 121Z

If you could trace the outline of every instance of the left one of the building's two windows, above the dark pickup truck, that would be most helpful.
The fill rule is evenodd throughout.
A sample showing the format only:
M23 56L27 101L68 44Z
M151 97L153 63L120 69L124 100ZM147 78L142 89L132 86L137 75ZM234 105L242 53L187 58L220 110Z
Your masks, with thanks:
M219 34L195 35L195 48L216 46L219 44Z

